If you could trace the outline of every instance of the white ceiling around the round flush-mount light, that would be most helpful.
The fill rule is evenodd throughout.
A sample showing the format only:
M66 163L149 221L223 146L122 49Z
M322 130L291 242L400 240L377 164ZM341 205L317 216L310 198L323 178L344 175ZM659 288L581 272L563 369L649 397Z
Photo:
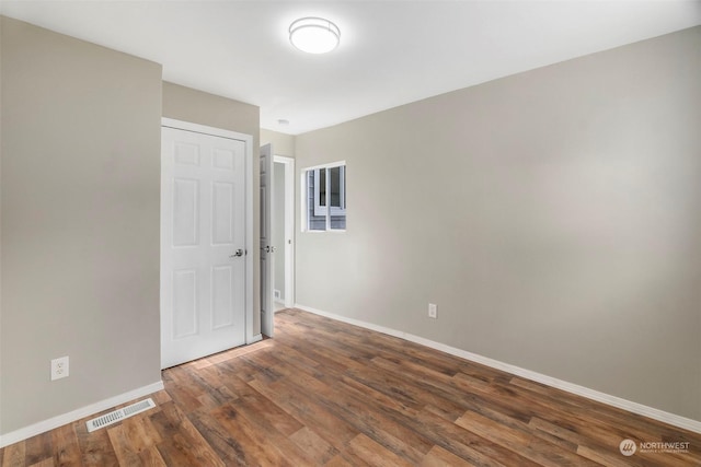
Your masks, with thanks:
M699 0L0 1L4 15L162 63L166 81L257 105L263 128L291 135L701 24ZM289 44L308 15L338 25L335 51Z

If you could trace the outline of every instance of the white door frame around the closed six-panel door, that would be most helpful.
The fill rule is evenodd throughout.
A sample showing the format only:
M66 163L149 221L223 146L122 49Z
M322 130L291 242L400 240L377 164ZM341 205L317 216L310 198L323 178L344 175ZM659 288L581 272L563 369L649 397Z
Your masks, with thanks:
M165 117L161 118L161 127L235 139L245 142L245 343L257 342L263 338L263 336L260 332L253 334L253 137L251 135L225 130L222 128L208 127L206 125L193 124L191 121L176 120Z

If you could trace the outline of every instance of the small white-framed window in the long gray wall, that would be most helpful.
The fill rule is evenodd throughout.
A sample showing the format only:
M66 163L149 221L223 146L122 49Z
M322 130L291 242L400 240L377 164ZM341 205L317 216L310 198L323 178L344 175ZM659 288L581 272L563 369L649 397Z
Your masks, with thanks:
M346 229L346 165L344 162L302 172L303 222L308 231Z

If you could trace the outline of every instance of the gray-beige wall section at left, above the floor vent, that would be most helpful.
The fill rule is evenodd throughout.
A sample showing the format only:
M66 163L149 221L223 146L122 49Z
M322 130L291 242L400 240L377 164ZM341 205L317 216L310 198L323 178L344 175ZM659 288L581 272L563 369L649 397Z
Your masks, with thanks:
M1 25L8 433L161 380L161 66Z

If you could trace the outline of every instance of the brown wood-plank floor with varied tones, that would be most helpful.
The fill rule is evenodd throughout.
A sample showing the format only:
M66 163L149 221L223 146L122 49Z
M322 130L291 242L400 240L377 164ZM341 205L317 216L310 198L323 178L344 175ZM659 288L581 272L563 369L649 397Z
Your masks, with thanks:
M61 427L0 450L0 465L701 465L699 434L297 310L277 314L275 339L163 382L157 408ZM625 457L624 439L689 450Z

